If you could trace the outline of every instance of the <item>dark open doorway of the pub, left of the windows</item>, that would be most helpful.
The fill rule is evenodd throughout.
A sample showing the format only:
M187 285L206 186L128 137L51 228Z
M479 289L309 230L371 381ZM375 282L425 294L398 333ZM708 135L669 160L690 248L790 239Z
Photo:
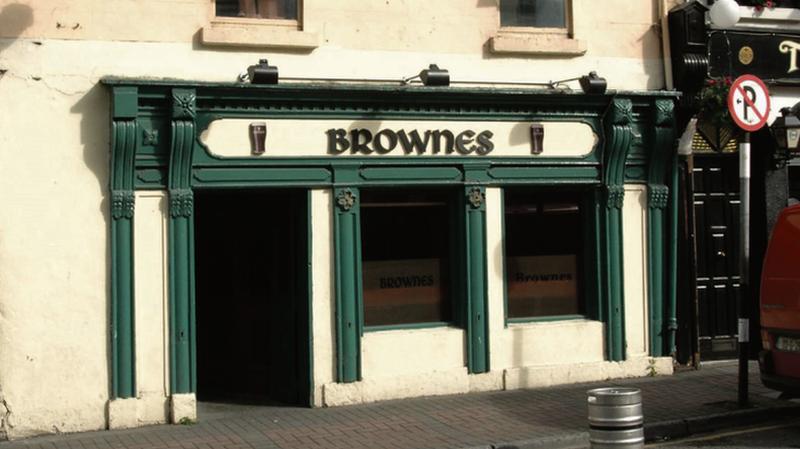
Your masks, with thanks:
M309 405L307 198L197 193L198 400Z

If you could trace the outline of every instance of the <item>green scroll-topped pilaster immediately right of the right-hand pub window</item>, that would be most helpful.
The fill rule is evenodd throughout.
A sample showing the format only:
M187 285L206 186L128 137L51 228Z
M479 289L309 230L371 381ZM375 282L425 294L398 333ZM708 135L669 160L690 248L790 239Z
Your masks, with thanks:
M605 208L603 254L604 307L606 313L606 351L609 360L625 359L624 266L622 262L622 203L625 198L625 160L633 131L633 103L615 98L605 117Z

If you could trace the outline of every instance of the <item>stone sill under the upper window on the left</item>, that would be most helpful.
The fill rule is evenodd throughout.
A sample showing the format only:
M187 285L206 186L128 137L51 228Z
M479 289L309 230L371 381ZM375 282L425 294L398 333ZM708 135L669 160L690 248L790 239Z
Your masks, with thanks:
M317 33L298 29L294 20L215 19L203 27L204 45L311 50L319 46Z

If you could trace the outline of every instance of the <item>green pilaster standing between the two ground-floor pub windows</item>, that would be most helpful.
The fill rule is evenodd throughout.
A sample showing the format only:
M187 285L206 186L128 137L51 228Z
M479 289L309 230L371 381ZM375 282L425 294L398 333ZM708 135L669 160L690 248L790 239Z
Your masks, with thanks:
M489 320L486 291L486 189L466 186L467 368L489 371Z

